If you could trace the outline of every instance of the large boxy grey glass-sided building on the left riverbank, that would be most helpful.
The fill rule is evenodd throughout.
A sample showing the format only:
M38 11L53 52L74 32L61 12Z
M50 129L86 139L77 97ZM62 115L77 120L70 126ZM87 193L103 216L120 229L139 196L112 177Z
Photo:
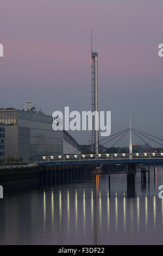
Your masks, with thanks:
M63 154L62 131L52 129L52 117L14 108L0 109L0 125L5 126L5 153L28 163L41 156Z

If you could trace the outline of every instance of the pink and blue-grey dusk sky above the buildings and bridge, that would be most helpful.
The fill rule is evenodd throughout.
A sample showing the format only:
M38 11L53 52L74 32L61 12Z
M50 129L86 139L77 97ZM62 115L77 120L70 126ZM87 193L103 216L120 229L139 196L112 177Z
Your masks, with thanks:
M135 129L163 138L162 8L162 0L0 1L0 107L33 100L48 115L91 110L93 28L99 111L111 111L111 134L129 127L131 113ZM91 139L70 133L79 144Z

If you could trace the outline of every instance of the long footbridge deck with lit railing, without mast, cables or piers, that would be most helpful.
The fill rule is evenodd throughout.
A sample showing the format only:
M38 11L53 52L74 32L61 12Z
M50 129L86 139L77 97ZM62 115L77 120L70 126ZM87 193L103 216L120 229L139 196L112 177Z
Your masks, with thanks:
M87 154L43 156L38 166L67 166L76 164L163 164L163 153Z

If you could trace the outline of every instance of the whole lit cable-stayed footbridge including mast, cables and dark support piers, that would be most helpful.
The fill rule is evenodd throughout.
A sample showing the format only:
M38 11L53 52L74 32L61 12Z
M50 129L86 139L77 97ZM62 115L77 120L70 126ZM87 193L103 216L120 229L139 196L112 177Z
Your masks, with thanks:
M129 132L129 153L122 154L70 154L70 155L52 155L52 156L42 156L40 161L37 161L37 166L45 175L47 173L52 173L60 177L76 175L80 172L86 173L98 173L102 171L107 171L109 173L109 195L110 195L110 184L111 184L111 174L112 173L126 173L127 174L127 194L128 196L135 196L135 175L136 173L141 173L141 184L142 188L146 188L147 183L147 173L148 173L148 186L150 186L150 172L154 170L154 184L156 176L156 165L163 164L163 149L158 152L148 152L148 153L133 153L131 132L139 137L144 143L146 139L155 142L163 147L163 139L156 136L149 135L146 132L136 130L130 127L124 129L123 131L117 132L109 137L101 140L101 144L110 143L112 140L116 139L119 142L124 136ZM114 146L114 143L112 146ZM104 145L103 144L103 145ZM149 145L149 143L147 143ZM153 166L151 169L149 166ZM93 172L92 172L93 171ZM51 175L51 174L50 174Z

